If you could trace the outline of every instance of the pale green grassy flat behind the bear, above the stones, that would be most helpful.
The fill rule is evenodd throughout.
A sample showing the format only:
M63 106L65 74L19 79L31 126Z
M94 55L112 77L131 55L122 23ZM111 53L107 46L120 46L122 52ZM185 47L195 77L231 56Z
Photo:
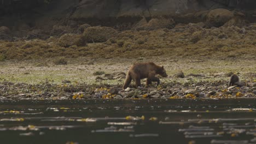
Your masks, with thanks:
M44 60L48 61L48 60ZM0 81L10 81L14 83L42 83L49 81L50 83L60 84L62 80L69 80L72 83L88 83L91 85L109 84L109 85L123 85L124 79L121 80L95 80L96 71L104 71L106 74L112 74L117 71L123 71L126 73L127 68L133 62L155 62L159 65L164 65L167 74L173 76L179 71L183 71L185 75L188 74L202 74L206 77L193 77L194 82L199 81L216 81L226 80L229 77L225 77L224 74L232 71L233 73L240 73L241 79L251 80L250 77L245 77L246 73L255 73L256 61L244 60L244 61L202 61L202 62L190 62L190 59L181 59L179 61L171 61L171 59L162 58L142 58L136 59L96 59L94 65L81 64L88 60L81 59L69 59L67 65L55 65L49 63L49 67L36 67L38 61L4 61L0 63L0 69L2 74L0 75ZM223 75L222 77L213 77L214 75ZM102 75L100 75L102 76ZM255 77L254 77L255 79ZM184 83L187 79L173 79L164 78L163 82L179 81Z

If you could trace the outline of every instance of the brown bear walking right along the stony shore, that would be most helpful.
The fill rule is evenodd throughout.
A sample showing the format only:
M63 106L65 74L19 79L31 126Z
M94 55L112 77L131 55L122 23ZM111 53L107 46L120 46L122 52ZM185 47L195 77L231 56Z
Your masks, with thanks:
M132 65L127 74L123 89L126 89L131 80L135 81L136 87L141 87L141 79L147 78L147 85L151 84L152 81L160 83L158 77L155 77L156 74L161 75L162 77L167 77L164 66L160 67L152 62L149 63L136 63Z

